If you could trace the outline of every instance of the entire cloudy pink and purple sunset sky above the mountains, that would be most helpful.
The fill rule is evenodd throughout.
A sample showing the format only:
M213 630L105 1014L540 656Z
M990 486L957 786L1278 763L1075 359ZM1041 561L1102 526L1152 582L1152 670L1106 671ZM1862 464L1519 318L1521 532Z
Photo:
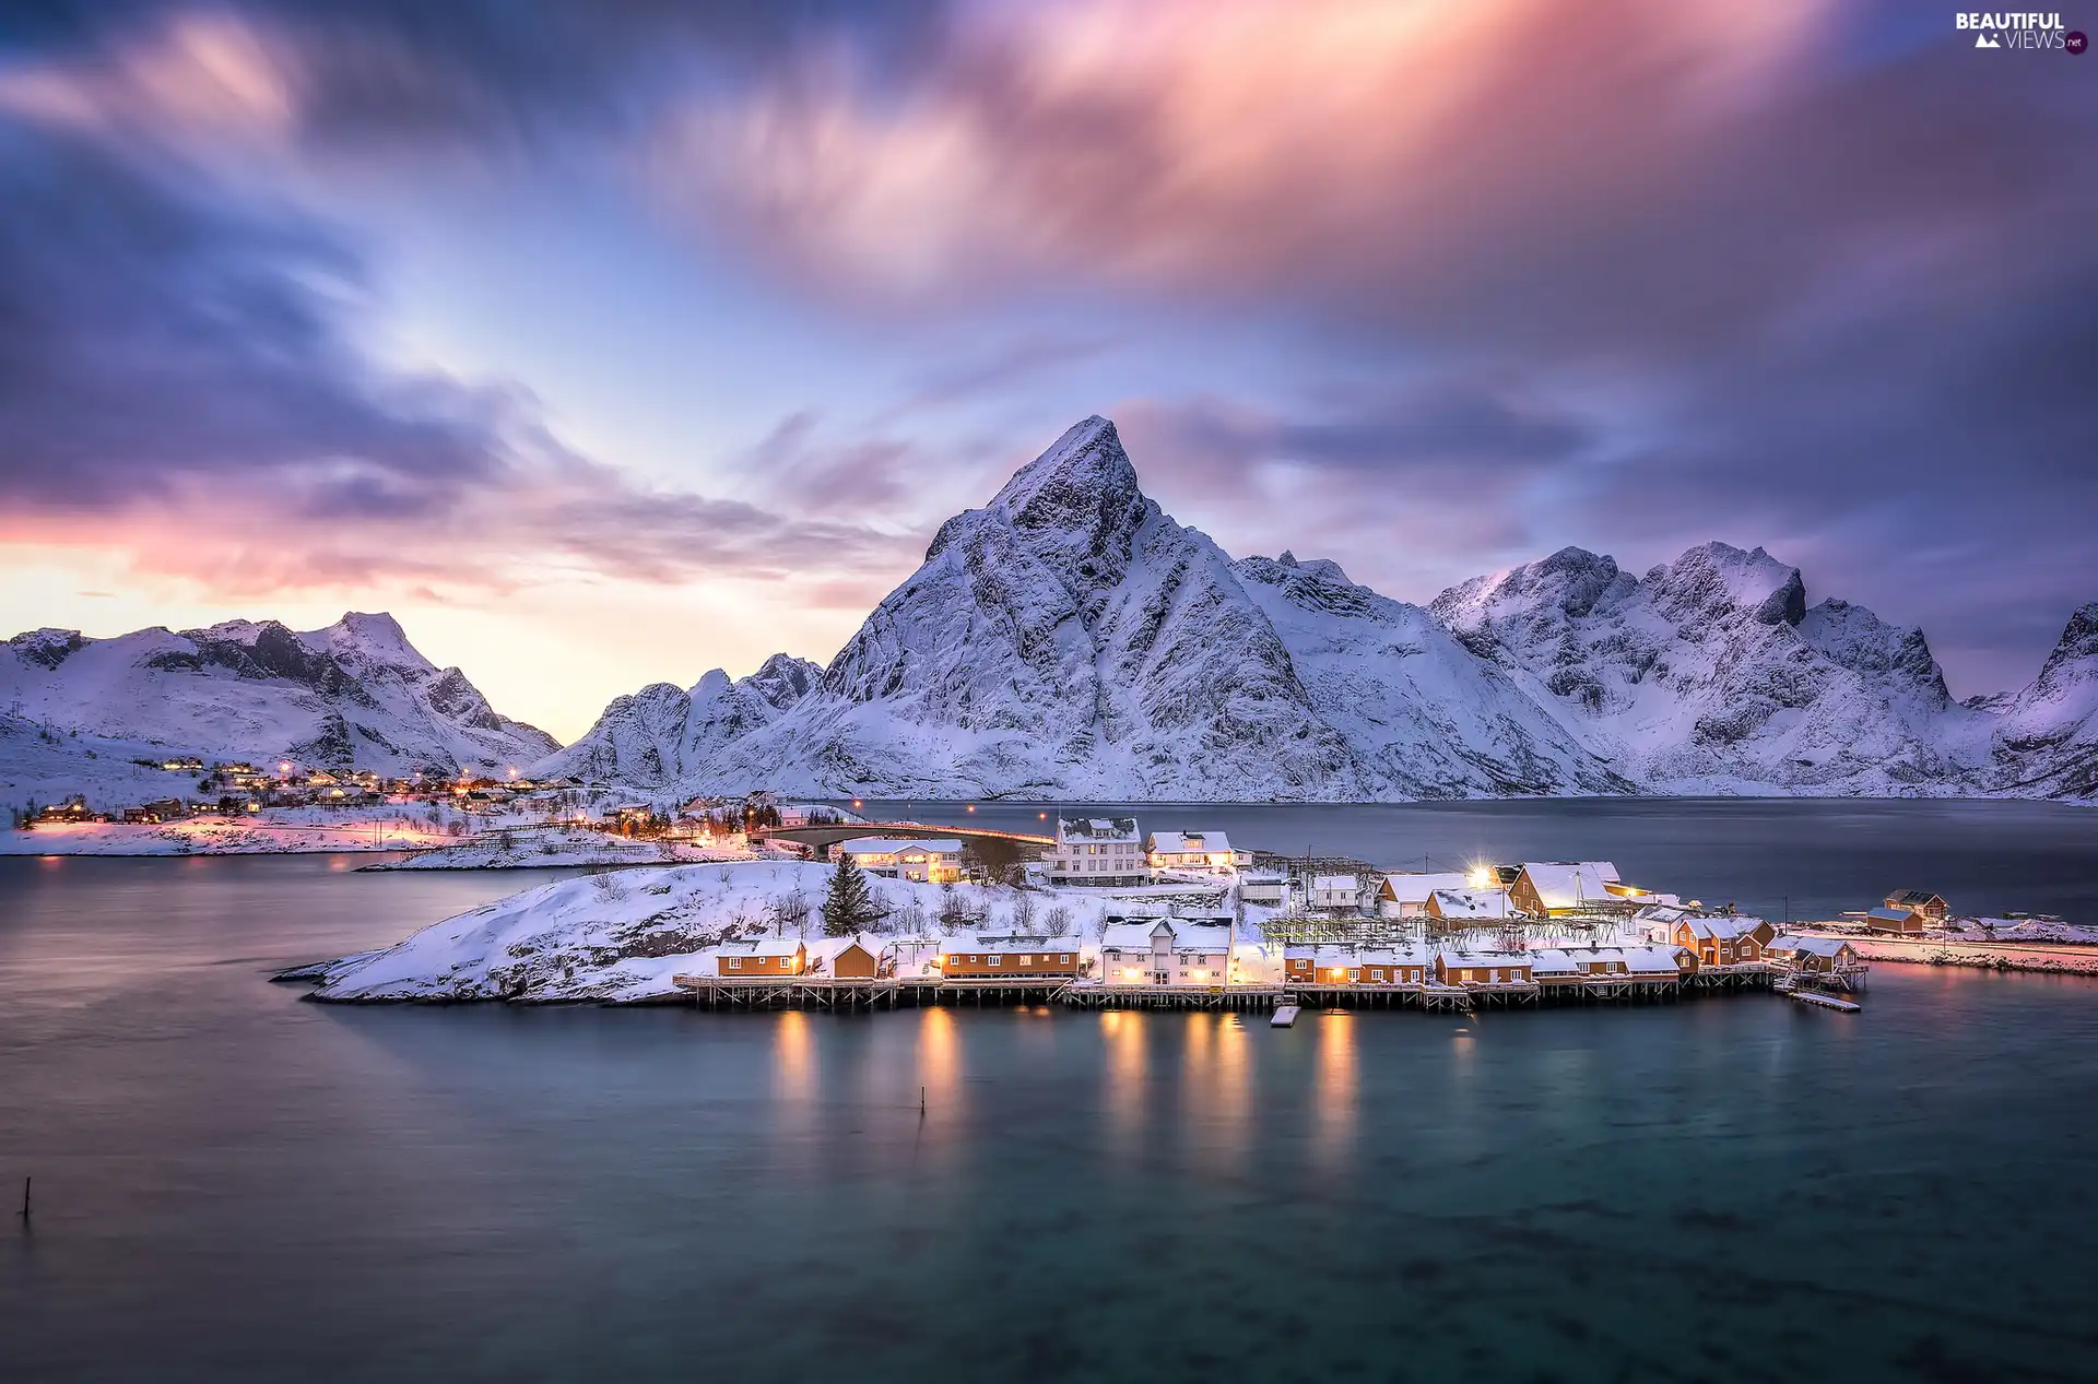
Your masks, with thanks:
M569 740L829 661L1104 413L1234 556L1427 602L1760 545L2014 688L2098 600L2098 59L1972 44L1827 0L13 4L0 633L392 610Z

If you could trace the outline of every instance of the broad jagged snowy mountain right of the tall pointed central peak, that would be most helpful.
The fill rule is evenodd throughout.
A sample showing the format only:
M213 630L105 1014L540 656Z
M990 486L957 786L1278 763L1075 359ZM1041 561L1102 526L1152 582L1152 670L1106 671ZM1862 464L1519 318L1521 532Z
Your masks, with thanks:
M1924 635L1806 606L1760 547L1693 547L1645 577L1567 547L1433 612L1599 757L1657 793L1972 793L1987 732Z

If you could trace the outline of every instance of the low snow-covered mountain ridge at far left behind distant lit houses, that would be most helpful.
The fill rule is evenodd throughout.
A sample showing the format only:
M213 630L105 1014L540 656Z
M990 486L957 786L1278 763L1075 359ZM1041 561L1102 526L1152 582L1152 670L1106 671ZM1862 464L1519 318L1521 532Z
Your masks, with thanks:
M197 755L319 767L504 772L558 749L438 669L390 614L296 633L277 621L88 640L38 629L0 646L0 795L134 778L130 757ZM92 753L92 759L90 759ZM147 774L138 791L168 791Z

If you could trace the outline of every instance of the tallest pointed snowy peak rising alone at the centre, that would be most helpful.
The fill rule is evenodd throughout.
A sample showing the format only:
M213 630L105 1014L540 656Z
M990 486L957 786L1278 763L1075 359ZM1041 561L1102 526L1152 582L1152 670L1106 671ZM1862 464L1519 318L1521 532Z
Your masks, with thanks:
M948 520L795 707L707 788L1357 797L1288 650L1208 537L1089 417Z

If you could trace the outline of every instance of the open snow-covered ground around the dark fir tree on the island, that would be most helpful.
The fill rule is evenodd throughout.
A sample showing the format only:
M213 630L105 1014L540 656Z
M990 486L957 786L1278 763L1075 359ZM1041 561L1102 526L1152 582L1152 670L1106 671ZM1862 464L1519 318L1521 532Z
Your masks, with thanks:
M808 862L686 864L564 879L497 900L378 954L321 969L323 1000L604 1000L673 998L671 977L703 969L730 937L778 929L822 933L831 868ZM938 931L959 904L982 931L1053 929L1099 935L1104 898L869 879L885 927ZM1015 912L1020 910L1020 912ZM1030 918L1022 918L1032 912Z

